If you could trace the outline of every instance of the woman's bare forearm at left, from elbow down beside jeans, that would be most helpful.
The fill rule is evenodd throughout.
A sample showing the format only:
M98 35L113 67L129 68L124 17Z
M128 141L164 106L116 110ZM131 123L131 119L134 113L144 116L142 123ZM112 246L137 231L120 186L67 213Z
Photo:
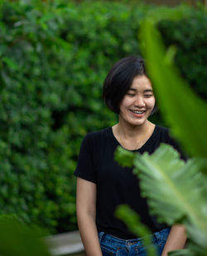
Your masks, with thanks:
M87 256L102 256L99 236L94 218L89 214L81 214L78 218L79 234Z

